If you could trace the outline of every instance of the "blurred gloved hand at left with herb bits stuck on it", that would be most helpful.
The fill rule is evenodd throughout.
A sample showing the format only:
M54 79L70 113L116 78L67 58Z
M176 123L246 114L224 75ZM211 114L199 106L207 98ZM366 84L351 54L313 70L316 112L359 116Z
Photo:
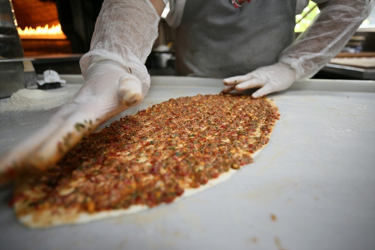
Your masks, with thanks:
M43 128L1 158L0 174L14 167L45 169L57 163L105 120L141 102L141 82L129 73L112 60L91 63L78 93Z

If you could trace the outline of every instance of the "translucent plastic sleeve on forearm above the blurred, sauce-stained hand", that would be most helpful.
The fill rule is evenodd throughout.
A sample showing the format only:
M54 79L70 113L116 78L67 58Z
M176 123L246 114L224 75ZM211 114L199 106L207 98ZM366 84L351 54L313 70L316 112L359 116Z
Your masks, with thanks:
M145 96L150 75L144 63L157 38L159 20L149 0L105 0L96 20L90 51L80 60L83 78L86 79L92 62L118 62L139 78Z

